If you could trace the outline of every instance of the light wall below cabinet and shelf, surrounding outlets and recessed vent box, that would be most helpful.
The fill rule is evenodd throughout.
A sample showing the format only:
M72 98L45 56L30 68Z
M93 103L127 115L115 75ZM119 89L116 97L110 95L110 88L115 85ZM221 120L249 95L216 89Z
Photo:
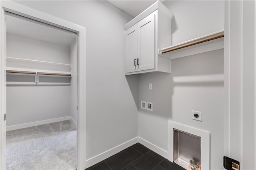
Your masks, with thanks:
M221 169L224 82L208 81L219 75L223 49L173 59L171 74L140 75L139 101L152 102L153 111L139 110L139 136L167 151L168 120L206 130L211 134L211 169ZM202 111L202 122L191 119L191 110Z

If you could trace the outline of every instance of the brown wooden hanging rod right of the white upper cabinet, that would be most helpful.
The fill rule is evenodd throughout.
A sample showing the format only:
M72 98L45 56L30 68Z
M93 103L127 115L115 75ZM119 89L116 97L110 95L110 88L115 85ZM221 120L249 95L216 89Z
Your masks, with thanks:
M222 32L218 32L216 34L212 34L210 36L206 36L206 37L203 37L203 38L199 38L197 40L193 40L193 41L189 41L189 42L185 42L185 43L182 43L180 45L174 45L172 47L169 47L167 49L163 49L161 51L161 53L168 53L170 51L174 51L174 50L177 50L177 49L181 49L181 48L185 48L185 47L189 47L191 45L196 45L196 44L199 44L199 43L203 43L203 42L208 42L210 40L215 40L215 39L218 39L218 38L222 38L224 37L224 31Z

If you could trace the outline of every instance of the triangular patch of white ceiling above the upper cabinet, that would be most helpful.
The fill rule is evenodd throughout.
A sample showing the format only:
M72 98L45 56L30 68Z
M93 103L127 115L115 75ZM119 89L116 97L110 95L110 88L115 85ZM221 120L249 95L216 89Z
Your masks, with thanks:
M107 0L117 8L136 17L138 14L146 10L150 5L154 4L156 0ZM160 0L164 2L165 0Z

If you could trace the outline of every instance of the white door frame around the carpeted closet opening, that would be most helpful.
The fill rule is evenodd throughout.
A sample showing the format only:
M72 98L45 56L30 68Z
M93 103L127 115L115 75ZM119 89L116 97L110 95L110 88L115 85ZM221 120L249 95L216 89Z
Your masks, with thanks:
M62 28L65 30L69 30L77 33L78 41L77 41L77 60L78 60L78 119L77 119L77 169L85 169L86 168L86 28L74 24L72 22L68 22L61 18L57 18L50 14L46 14L44 12L40 12L33 8L29 8L27 6L23 6L16 2L12 1L0 1L0 19L1 23L4 22L4 14L5 11L12 12L14 14L18 14L20 16L24 16L33 20L37 20L43 22L45 24L49 24L52 26L56 26L58 28ZM0 35L5 35L6 32L1 29ZM2 41L1 41L2 43ZM4 45L4 44L1 44ZM6 49L5 49L6 50ZM2 52L2 51L1 51ZM1 56L6 57L6 56ZM1 61L3 58L0 59ZM0 73L2 80L2 73L6 71L5 68L0 67ZM6 80L0 82L0 87L4 87L6 85ZM2 93L0 93L0 99L4 97ZM6 102L0 100L0 105L6 105ZM6 106L5 106L6 107ZM3 135L6 135L6 124L4 122L4 113L3 109L0 110L0 128L2 130L5 129L5 132L0 133L0 169L6 169L6 153L2 149L6 149L6 144L2 142Z

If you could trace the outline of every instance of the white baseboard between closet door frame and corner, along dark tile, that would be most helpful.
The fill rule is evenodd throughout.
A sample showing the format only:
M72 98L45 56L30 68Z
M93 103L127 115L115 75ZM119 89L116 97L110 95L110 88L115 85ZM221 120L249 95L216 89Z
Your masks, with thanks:
M87 159L86 160L86 168L124 150L125 148L128 148L129 146L132 146L133 144L136 144L137 142L138 142L138 137L128 140L127 142L124 142L123 144L120 144L110 150L107 150L105 152L102 152L101 154L98 154L92 158Z

